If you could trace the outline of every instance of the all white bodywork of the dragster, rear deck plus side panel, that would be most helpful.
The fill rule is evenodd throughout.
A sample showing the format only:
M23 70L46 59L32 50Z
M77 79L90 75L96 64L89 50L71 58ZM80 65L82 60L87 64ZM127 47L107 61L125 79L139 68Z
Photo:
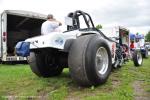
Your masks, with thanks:
M61 32L53 32L47 35L41 35L33 38L29 38L25 40L25 42L30 42L30 49L40 49L40 48L56 48L63 50L66 40L68 39L76 39L81 34L88 34L88 33L95 33L94 32L81 32L78 30L70 31L66 33ZM99 34L98 32L96 34ZM112 41L106 40L112 56L112 63L115 61L115 50L116 50L116 43Z

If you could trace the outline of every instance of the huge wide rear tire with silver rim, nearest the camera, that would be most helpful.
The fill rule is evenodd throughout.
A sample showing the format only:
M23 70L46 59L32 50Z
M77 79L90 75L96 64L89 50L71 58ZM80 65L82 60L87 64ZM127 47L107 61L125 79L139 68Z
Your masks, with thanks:
M68 63L71 77L81 86L105 83L112 69L107 43L94 34L74 40Z

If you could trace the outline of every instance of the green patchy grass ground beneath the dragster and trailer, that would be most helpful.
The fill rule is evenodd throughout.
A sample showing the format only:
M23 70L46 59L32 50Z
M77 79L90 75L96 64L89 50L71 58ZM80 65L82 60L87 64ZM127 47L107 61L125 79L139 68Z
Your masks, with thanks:
M42 78L28 65L0 65L0 100L133 100L137 96L134 82L140 82L140 88L150 95L150 58L144 59L141 67L130 61L113 70L105 84L89 88L76 85L68 69L60 76Z

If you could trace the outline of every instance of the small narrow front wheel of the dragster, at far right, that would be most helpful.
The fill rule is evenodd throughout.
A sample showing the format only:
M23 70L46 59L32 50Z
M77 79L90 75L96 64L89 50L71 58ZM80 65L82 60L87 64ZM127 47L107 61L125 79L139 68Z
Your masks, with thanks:
M143 63L142 53L140 51L135 50L133 53L133 62L135 66L141 66Z

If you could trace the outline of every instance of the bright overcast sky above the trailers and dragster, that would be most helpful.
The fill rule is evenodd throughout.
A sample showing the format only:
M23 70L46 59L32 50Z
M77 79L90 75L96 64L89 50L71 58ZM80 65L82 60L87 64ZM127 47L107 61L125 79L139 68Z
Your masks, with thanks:
M150 30L150 0L0 0L3 10L52 13L62 22L69 12L83 10L103 27L124 26L144 34Z

